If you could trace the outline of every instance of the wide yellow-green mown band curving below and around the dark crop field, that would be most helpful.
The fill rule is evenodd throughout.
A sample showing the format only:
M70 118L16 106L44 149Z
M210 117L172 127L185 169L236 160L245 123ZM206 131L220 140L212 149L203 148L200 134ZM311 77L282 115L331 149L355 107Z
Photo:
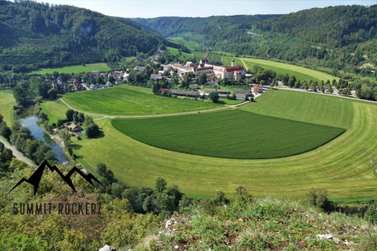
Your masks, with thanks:
M350 128L326 145L279 159L235 160L194 156L162 150L138 142L98 121L104 137L75 140L79 161L91 172L106 163L115 176L132 186L153 187L157 177L177 184L190 196L227 195L239 185L254 196L304 198L311 187L325 188L337 201L376 195L377 179L364 149L377 157L377 107L353 102Z

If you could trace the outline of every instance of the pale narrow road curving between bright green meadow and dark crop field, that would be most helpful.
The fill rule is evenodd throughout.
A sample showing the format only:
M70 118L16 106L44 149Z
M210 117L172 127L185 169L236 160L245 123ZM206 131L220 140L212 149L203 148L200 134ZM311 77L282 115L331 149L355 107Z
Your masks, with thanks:
M105 118L110 118L110 119L113 119L113 118L129 118L129 119L131 119L131 118L153 118L153 117L167 117L167 116L177 116L177 115L186 115L186 114L196 114L196 113L203 113L203 112L215 112L215 111L220 111L220 110L225 110L225 109L230 109L230 108L236 108L240 105L243 105L243 104L249 102L249 101L244 101L244 102L239 103L239 104L232 104L232 105L228 104L228 105L221 107L221 108L199 110L199 111L189 111L189 112L165 113L165 114L154 114L154 115L108 115L108 114L106 115L106 114L98 114L98 113L90 113L90 112L81 111L81 110L78 110L78 109L72 107L66 101L64 101L62 99L60 99L60 100L63 103L65 103L69 108L71 108L75 111L83 112L83 113L86 113L86 114L89 114L89 115L102 116L102 118L95 119L95 120L101 120L101 119L105 119Z

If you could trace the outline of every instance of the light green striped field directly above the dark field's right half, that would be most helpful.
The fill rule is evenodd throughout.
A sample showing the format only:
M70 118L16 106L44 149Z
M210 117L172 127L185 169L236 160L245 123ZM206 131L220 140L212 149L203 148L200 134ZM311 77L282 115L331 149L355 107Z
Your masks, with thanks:
M289 90L268 90L242 110L327 126L349 128L353 100Z

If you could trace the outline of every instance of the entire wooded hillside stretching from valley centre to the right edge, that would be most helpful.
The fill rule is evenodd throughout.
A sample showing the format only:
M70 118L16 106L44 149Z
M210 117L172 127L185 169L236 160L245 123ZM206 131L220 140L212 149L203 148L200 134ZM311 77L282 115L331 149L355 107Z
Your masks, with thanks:
M166 37L202 38L214 50L239 55L366 75L373 72L361 66L377 66L377 5L313 8L286 15L133 20Z

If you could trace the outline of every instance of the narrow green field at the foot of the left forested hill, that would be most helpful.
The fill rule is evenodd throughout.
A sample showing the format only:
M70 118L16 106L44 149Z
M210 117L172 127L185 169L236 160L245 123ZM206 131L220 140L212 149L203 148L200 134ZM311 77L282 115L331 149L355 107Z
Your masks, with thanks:
M82 65L73 65L73 66L64 66L59 68L45 68L38 71L32 71L28 74L52 74L53 72L58 73L86 73L91 71L99 71L99 72L107 72L110 68L106 63L97 63L97 64L86 64L85 66Z

